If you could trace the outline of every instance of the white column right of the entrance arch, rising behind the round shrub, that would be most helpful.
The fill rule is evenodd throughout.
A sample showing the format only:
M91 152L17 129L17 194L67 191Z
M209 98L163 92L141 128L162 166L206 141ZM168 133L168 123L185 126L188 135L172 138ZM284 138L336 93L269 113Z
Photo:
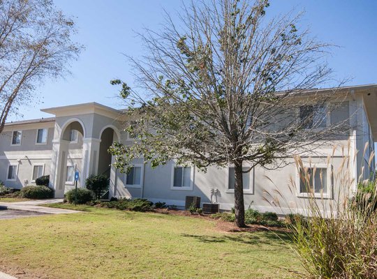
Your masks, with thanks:
M98 172L98 158L101 140L93 137L87 137L82 140L82 183L84 186L85 179L91 174Z

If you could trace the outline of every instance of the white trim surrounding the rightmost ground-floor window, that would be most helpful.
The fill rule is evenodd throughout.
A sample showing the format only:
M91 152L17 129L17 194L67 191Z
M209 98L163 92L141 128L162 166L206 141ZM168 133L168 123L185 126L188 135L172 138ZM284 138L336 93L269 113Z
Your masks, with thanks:
M327 174L327 193L301 193L300 192L300 167L296 167L296 188L297 188L297 197L314 197L318 199L332 199L332 165L324 163L303 163L304 167L311 169L326 169ZM314 185L313 185L314 187Z

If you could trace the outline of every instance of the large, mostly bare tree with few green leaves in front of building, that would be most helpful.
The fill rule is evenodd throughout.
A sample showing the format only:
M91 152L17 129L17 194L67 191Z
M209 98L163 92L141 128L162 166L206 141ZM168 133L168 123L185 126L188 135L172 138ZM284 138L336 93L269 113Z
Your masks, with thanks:
M244 226L242 174L315 150L339 125L327 126L332 91L324 62L329 45L299 31L300 15L265 19L267 0L212 0L184 6L179 24L140 34L146 49L131 59L142 96L121 80L133 145L114 143L126 172L143 156L152 167L175 159L206 169L235 167L236 225ZM145 90L147 89L147 90ZM313 90L307 90L313 89ZM339 130L338 130L339 131ZM248 165L245 169L245 165Z

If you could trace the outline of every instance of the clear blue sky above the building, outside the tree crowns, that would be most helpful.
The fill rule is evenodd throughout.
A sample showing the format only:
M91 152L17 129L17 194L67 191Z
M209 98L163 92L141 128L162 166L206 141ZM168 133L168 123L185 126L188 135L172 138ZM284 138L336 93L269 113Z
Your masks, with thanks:
M54 0L67 15L76 17L76 40L86 47L71 66L72 75L49 80L36 91L34 104L22 107L23 118L48 117L41 108L97 102L119 108L117 88L109 81L120 78L132 84L131 68L122 53L142 54L135 31L158 29L163 8L179 10L179 0ZM337 77L352 77L348 84L377 83L377 1L272 0L269 15L295 8L305 10L302 24L319 40L341 46L333 50L330 66ZM37 99L38 98L38 99Z

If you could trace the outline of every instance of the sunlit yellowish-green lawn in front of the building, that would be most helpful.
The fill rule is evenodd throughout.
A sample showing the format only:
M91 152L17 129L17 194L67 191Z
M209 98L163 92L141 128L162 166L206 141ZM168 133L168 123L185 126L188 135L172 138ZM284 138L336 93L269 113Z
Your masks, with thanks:
M201 218L76 209L87 212L0 220L0 270L24 271L18 278L292 278L278 266L300 269L285 234L219 232L215 221Z

